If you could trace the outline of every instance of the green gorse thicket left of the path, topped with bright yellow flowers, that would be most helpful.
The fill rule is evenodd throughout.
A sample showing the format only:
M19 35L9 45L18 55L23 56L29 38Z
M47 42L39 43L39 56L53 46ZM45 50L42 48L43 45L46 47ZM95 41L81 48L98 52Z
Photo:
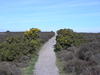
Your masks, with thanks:
M24 37L10 37L6 41L0 43L0 60L14 61L24 55L36 54L41 45L39 39L39 29L30 29L25 32Z

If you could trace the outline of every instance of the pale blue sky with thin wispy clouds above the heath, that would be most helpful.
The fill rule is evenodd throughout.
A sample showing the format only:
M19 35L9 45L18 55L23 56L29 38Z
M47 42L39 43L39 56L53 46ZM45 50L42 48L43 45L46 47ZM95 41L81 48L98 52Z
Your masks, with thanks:
M0 32L30 28L100 32L100 0L0 0Z

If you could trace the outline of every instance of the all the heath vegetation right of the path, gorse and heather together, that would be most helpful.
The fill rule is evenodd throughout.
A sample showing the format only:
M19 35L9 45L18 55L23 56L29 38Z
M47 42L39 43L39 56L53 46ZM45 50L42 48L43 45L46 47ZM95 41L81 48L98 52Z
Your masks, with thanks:
M100 33L57 31L55 52L61 75L100 75Z

